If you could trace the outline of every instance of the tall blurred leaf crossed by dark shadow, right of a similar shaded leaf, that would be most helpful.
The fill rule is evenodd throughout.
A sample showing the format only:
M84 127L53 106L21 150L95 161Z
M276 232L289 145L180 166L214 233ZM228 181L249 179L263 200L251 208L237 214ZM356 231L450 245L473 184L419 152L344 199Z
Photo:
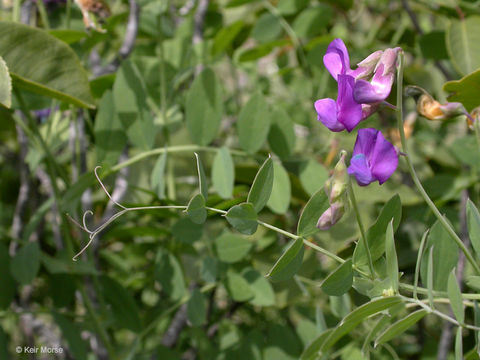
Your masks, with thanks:
M147 88L140 71L132 61L124 61L113 84L115 110L131 143L150 150L157 128L146 99Z

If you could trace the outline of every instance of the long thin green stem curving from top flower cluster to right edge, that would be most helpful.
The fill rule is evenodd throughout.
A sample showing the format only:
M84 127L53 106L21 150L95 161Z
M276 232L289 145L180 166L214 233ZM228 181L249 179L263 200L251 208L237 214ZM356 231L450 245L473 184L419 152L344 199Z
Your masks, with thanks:
M438 208L435 206L433 201L428 196L427 192L422 186L422 183L418 179L417 173L415 172L415 168L413 167L412 161L410 160L410 156L408 155L407 150L407 140L405 138L405 131L403 129L403 62L404 62L404 55L403 52L399 54L399 64L398 64L398 74L397 74L397 123L398 123L398 131L400 132L400 139L402 142L402 151L405 154L405 160L407 161L408 171L412 180L417 187L418 191L423 197L423 200L427 203L430 210L432 210L435 217L438 219L440 224L442 224L443 228L447 231L447 233L451 236L451 238L457 243L457 246L462 250L467 258L468 262L472 265L475 269L477 274L480 274L480 266L475 261L474 257L468 251L468 249L463 244L460 237L457 235L455 230L452 226L448 223L445 217L440 213Z

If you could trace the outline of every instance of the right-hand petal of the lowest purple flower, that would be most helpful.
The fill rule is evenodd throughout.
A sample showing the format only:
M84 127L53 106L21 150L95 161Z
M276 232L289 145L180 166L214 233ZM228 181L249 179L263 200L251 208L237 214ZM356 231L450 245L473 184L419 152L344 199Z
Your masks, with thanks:
M397 150L389 141L385 140L380 131L377 134L370 158L370 166L373 177L378 180L380 185L392 176L398 166Z

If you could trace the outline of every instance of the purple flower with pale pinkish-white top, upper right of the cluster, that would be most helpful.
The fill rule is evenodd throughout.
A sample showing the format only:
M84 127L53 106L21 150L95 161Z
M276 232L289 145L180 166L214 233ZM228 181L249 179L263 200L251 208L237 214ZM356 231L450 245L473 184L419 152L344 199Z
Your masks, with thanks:
M372 80L359 79L355 83L353 96L361 104L372 104L384 101L392 90L395 79L395 66L400 48L387 49L378 61Z

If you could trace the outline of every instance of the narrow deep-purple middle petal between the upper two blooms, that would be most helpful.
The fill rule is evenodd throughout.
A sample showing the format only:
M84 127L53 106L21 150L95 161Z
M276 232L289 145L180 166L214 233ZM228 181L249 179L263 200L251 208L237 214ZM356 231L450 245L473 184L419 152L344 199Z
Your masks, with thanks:
M362 105L353 98L355 79L349 75L338 75L338 121L352 131L362 120Z

